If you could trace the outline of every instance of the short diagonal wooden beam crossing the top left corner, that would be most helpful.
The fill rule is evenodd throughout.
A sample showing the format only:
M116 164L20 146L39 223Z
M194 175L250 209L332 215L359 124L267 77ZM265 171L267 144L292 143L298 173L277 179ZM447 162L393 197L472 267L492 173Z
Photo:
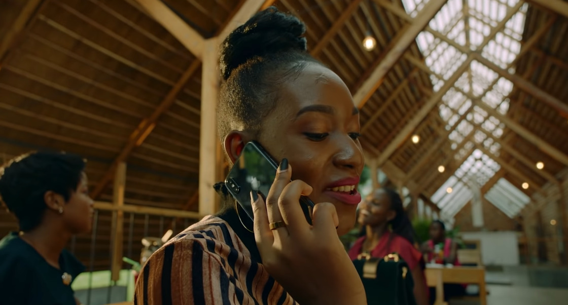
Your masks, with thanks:
M22 8L22 11L20 11L18 18L14 20L14 23L10 25L4 37L0 39L0 69L2 69L2 63L8 52L18 41L19 36L25 31L26 26L34 19L36 12L40 9L40 5L42 5L43 2L44 0L28 0Z

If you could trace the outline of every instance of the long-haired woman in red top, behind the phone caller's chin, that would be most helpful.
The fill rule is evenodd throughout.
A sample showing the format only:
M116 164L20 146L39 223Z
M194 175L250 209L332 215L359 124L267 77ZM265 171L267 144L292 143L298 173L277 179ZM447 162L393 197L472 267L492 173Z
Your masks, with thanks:
M359 209L358 223L365 235L349 250L349 257L356 260L361 253L372 257L384 257L396 252L408 264L414 280L414 296L418 305L428 303L428 292L422 263L422 255L414 247L414 228L395 190L375 190Z

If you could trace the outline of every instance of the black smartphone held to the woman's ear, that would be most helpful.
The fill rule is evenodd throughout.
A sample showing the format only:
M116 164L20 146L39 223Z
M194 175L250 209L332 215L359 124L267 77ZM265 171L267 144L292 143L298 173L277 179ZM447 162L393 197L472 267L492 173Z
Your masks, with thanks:
M276 177L278 163L257 142L245 144L239 159L229 171L225 185L229 193L235 198L250 219L254 218L250 192L260 192L264 197L268 195L270 187ZM306 196L300 197L300 206L304 211L306 221L312 224L310 210L314 202Z

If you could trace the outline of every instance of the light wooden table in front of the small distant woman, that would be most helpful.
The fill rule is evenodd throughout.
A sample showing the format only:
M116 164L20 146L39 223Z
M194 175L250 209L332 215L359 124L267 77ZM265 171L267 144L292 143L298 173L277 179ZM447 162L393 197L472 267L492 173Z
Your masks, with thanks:
M444 304L444 283L477 284L479 285L479 303L487 304L485 290L485 268L483 267L427 267L424 270L428 287L436 287L436 303Z

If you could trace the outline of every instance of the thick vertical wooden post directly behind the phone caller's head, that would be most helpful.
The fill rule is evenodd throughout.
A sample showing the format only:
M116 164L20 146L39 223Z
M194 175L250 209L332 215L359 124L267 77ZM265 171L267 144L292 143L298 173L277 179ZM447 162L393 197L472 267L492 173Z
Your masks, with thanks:
M204 43L203 75L201 79L201 129L199 136L199 214L215 213L216 196L213 185L218 182L217 103L220 71L217 65L219 41L216 37Z

